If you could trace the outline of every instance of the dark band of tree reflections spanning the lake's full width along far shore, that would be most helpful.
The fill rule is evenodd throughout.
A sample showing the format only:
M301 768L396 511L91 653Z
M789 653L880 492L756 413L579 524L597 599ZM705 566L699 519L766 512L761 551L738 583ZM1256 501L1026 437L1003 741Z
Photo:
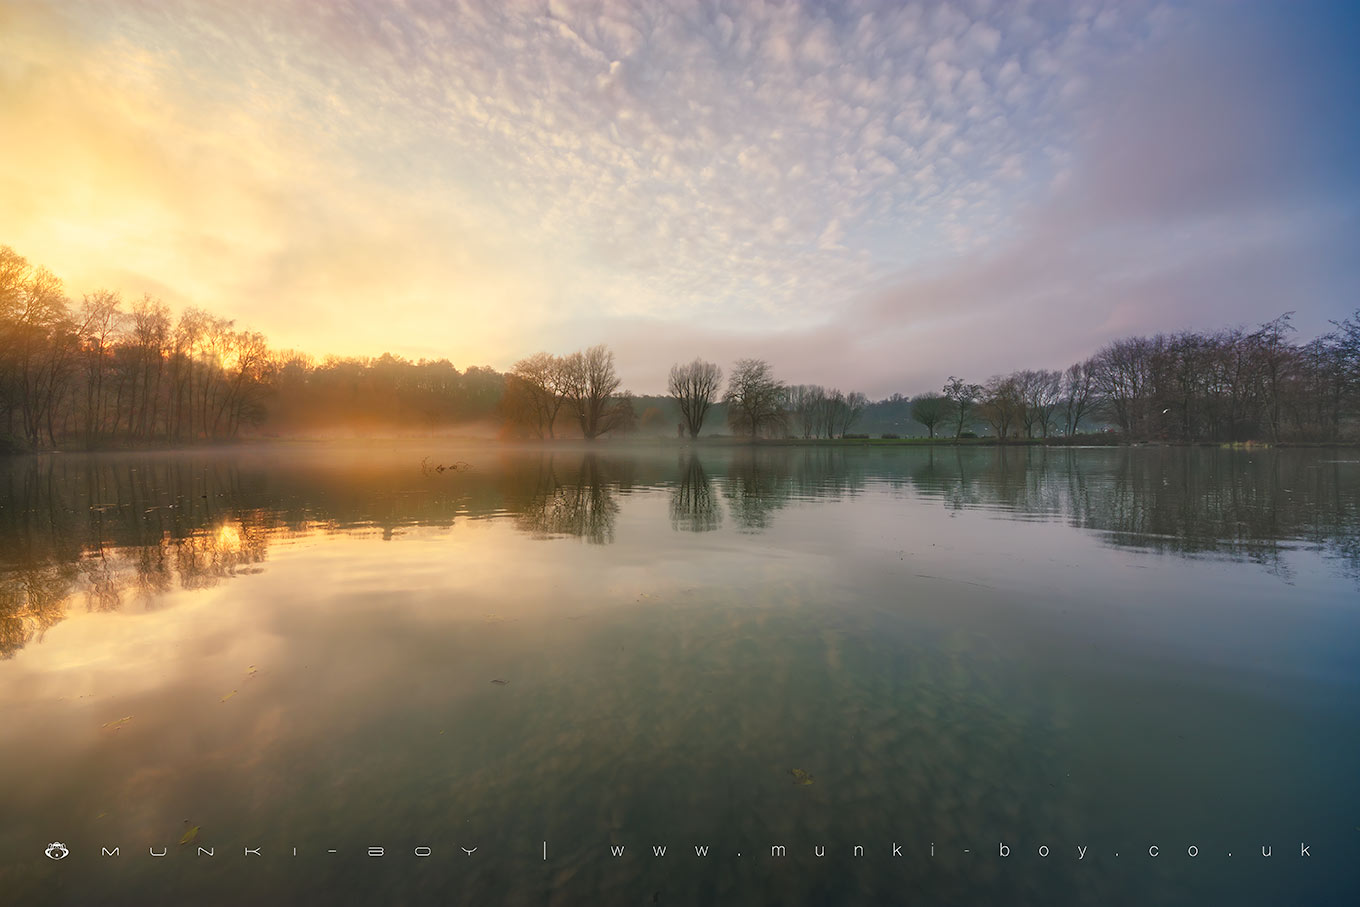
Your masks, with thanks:
M423 475L418 450L307 447L27 457L0 462L0 657L72 604L152 608L171 589L258 571L269 545L509 518L534 538L616 540L623 500L662 490L677 532L762 533L794 503L880 490L1008 519L1066 521L1133 549L1247 560L1288 575L1323 552L1360 578L1353 451L834 449L465 451Z

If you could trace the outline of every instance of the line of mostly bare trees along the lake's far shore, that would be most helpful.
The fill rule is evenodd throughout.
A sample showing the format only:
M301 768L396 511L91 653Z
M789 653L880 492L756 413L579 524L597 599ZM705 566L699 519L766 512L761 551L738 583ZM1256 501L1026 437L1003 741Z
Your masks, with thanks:
M1300 340L1255 328L1111 341L1065 369L869 400L768 362L676 363L665 394L622 388L605 345L507 371L447 359L316 358L150 295L71 299L0 246L0 451L178 447L257 438L472 432L763 442L1340 443L1360 423L1360 310Z

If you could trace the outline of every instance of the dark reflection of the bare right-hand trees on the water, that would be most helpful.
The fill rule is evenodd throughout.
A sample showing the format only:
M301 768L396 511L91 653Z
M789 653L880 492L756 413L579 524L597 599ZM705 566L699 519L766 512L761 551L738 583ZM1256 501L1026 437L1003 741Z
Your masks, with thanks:
M1278 566L1307 544L1360 575L1353 450L996 449L930 451L911 473L953 509L1062 518L1107 544Z

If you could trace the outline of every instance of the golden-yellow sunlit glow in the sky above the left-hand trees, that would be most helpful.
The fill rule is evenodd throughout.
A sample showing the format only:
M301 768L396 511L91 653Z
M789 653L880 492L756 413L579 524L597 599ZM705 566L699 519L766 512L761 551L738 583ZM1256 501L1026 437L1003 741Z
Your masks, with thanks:
M503 313L530 305L532 268L490 247L454 192L378 185L280 99L215 97L177 54L88 42L37 7L4 15L0 121L22 140L0 143L0 237L69 294L151 294L316 355L518 352Z

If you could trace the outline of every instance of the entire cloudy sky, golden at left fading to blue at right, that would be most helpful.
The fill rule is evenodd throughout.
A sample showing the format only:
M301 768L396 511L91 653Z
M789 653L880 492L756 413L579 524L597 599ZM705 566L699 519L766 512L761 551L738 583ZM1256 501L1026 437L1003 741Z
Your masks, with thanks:
M1360 306L1360 8L0 0L0 245L324 356L870 397Z

